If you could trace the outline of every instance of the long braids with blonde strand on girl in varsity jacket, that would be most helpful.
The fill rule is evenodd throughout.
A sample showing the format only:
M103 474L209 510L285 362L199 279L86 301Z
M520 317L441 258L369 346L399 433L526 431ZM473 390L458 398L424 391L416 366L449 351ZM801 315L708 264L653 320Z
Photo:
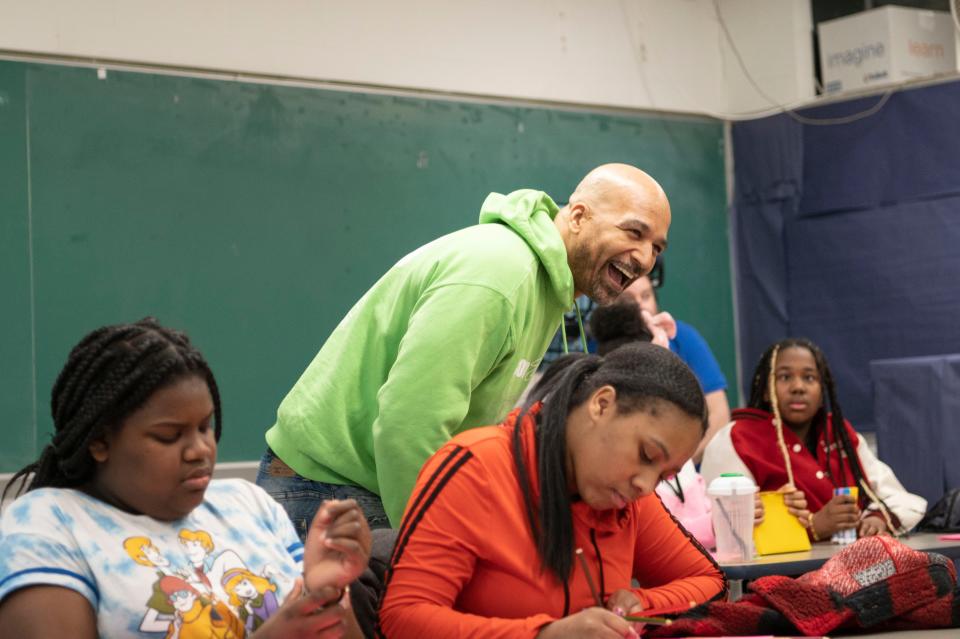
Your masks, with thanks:
M813 355L813 359L817 365L817 371L820 375L821 385L826 391L827 400L829 401L829 406L827 402L822 402L820 409L817 411L816 415L813 418L814 424L820 424L824 428L827 427L827 415L830 415L830 428L827 428L827 468L830 468L830 456L832 455L833 450L838 451L840 456L839 463L837 466L841 470L840 477L830 476L831 482L836 486L859 486L860 493L860 505L870 503L871 501L880 509L880 514L886 522L888 529L891 532L899 531L900 527L895 525L895 518L891 515L889 508L886 503L880 499L873 489L870 487L870 483L867 481L866 473L863 471L863 466L860 462L860 457L857 455L856 446L853 441L850 439L850 433L844 425L843 418L843 409L840 407L840 401L837 399L837 389L836 384L833 379L833 372L830 370L829 364L827 364L827 358L823 354L823 351L820 350L820 347L814 344L809 339L791 337L776 344L770 346L760 358L760 362L757 364L757 368L753 375L753 380L750 387L750 402L748 406L750 408L756 408L759 410L767 411L773 414L774 426L778 430L778 443L780 446L781 454L784 458L784 463L786 465L788 483L793 484L793 473L790 464L790 457L786 451L786 444L783 441L782 435L782 419L780 417L779 407L777 406L776 401L771 401L771 398L776 398L776 367L777 367L777 355L781 351L784 351L788 348L803 348L810 352ZM844 464L843 459L846 458L848 463ZM848 477L847 471L852 474L852 477ZM852 482L850 480L853 480Z

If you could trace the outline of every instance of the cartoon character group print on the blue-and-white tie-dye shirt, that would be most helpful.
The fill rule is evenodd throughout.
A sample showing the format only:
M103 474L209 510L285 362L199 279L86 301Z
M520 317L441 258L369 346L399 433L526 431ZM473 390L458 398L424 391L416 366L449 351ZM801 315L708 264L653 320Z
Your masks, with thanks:
M255 574L235 551L215 552L213 538L204 530L183 528L177 537L180 552L173 554L162 552L148 537L123 542L133 561L157 573L141 632L165 633L166 639L242 638L277 610L271 566Z

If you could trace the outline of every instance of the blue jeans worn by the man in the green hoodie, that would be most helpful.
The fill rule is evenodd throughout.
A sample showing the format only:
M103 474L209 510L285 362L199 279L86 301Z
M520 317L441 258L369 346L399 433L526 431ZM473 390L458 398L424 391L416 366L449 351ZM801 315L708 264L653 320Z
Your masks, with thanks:
M330 499L355 499L370 528L389 528L390 521L383 510L383 502L366 488L343 484L328 484L301 477L267 448L257 470L257 485L280 502L287 511L300 541L306 541L307 529L320 504Z

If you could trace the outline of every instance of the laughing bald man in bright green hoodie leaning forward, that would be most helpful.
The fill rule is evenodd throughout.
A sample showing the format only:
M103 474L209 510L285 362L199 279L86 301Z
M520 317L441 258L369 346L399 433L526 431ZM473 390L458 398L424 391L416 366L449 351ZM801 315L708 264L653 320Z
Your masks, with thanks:
M402 258L347 313L280 404L257 483L301 538L327 499L399 527L423 462L502 420L574 298L613 301L669 226L663 189L625 164L591 171L562 208L490 194L479 224Z

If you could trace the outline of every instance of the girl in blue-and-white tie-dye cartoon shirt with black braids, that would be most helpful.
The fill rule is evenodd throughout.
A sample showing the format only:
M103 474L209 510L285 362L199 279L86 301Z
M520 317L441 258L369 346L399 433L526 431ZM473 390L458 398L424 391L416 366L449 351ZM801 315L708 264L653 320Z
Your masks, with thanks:
M362 637L337 605L370 554L359 505L326 502L301 544L262 489L213 479L220 394L185 334L153 318L87 334L50 404L53 437L0 517L3 636ZM275 598L238 611L217 595L223 571L190 548L224 543ZM185 612L178 592L199 599Z

